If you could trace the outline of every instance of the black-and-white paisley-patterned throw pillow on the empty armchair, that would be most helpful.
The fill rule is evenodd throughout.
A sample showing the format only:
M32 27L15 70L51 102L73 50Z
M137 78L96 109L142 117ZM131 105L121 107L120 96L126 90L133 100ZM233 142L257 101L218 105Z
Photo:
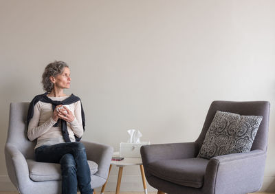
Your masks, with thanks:
M263 116L217 111L206 133L199 158L250 151Z

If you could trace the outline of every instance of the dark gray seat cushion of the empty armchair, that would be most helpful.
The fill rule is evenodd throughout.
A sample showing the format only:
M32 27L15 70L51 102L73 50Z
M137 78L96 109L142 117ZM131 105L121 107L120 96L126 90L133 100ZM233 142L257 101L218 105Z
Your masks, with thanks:
M163 180L182 186L200 188L209 160L186 158L177 160L159 160L148 164L148 171Z

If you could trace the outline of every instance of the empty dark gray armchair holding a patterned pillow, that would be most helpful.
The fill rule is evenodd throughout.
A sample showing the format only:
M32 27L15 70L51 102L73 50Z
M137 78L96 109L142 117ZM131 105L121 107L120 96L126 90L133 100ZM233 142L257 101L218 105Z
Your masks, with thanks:
M246 153L197 158L216 111L263 116L252 149ZM158 193L242 194L259 191L267 154L270 103L214 101L195 142L152 144L140 149L146 179Z

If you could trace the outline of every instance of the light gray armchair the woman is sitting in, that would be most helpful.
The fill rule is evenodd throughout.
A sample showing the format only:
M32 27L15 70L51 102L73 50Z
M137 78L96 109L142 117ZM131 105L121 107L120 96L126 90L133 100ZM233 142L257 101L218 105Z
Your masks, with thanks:
M10 180L21 194L61 193L60 164L36 162L36 142L26 137L26 116L30 103L11 103L5 162ZM96 142L81 141L85 145L91 169L91 186L106 182L113 148Z

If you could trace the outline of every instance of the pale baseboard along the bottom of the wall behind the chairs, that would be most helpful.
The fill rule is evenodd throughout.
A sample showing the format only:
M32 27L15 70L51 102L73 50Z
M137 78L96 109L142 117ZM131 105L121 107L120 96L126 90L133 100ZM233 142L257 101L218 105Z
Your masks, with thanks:
M110 175L105 191L115 191L117 175ZM146 182L147 190L150 192L157 191ZM101 188L96 188L100 191ZM8 175L0 175L0 191L17 191L17 188L10 182ZM142 178L140 175L122 175L120 191L143 191ZM275 176L265 176L261 192L275 192Z

